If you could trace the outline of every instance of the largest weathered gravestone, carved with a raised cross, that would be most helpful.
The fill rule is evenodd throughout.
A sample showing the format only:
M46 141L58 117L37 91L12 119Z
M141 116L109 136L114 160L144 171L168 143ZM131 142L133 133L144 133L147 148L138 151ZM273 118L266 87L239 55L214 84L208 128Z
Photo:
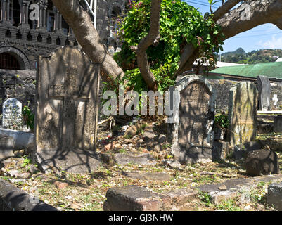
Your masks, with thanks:
M95 155L99 65L65 46L39 58L34 155L41 169L91 172Z

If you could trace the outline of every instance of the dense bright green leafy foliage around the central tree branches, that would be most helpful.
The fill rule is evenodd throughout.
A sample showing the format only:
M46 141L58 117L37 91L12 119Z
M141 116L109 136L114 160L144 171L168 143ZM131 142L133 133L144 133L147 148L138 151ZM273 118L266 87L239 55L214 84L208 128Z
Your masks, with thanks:
M122 49L114 58L125 72L127 86L135 91L146 90L146 84L137 67L136 49L150 28L150 0L131 1L127 16L117 18L120 27L117 37L122 40ZM174 84L172 75L179 68L180 55L187 43L199 47L199 63L214 65L222 49L223 34L212 20L213 15L201 15L196 8L181 0L163 0L160 11L160 41L158 46L147 50L148 62L158 83L158 90Z

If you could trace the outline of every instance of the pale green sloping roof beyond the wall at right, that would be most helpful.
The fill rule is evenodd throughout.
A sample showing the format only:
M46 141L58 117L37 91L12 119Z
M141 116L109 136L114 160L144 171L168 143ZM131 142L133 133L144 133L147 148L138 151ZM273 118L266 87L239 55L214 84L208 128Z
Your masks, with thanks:
M252 65L225 66L212 70L211 73L226 75L238 75L243 77L266 76L269 78L282 79L282 62L280 63L257 63Z

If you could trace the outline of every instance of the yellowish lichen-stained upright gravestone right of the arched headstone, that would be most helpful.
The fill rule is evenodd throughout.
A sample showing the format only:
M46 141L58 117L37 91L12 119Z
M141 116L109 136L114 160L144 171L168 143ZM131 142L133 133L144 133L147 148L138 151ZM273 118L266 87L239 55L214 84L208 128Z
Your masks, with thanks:
M229 141L231 146L255 141L257 122L257 87L238 82L229 91Z

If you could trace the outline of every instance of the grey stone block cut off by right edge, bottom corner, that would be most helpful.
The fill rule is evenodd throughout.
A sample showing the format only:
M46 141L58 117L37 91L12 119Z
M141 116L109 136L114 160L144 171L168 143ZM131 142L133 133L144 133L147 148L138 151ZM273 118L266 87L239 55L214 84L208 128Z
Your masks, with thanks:
M274 183L268 186L267 204L278 211L282 211L282 183Z

